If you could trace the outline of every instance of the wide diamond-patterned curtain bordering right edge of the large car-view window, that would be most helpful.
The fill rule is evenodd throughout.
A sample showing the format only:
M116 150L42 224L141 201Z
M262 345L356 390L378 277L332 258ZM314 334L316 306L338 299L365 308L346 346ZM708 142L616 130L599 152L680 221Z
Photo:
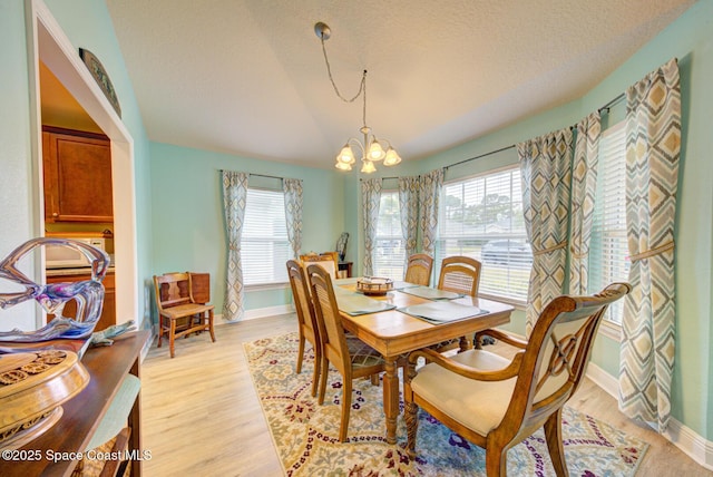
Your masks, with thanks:
M572 139L572 130L566 128L517 145L522 173L525 227L534 255L527 293L527 337L543 309L563 293Z

